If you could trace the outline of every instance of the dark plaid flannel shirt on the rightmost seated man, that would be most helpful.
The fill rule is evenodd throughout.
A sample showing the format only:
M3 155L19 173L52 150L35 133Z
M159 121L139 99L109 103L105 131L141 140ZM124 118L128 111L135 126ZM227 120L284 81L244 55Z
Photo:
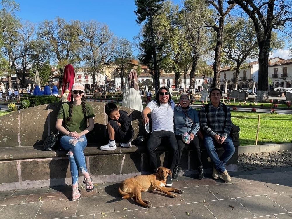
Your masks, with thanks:
M205 113L205 107L202 107L200 112L200 123L202 129L206 132L207 135L214 137L215 134L218 134L220 137L224 136L226 139L232 127L230 108L227 107L225 118L225 112L223 110L222 103L219 103L217 109L210 103L209 112L207 115Z

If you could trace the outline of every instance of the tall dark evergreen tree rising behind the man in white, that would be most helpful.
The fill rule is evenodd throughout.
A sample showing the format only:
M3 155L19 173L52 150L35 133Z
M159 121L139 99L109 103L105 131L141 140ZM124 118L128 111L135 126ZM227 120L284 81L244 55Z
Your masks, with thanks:
M141 25L143 22L147 21L147 29L150 33L147 41L151 42L151 46L147 46L147 51L152 52L152 59L153 59L153 68L154 68L154 86L155 92L158 91L160 84L159 84L159 68L157 66L157 57L156 57L156 46L154 40L154 31L153 31L153 19L154 16L159 14L160 9L162 8L162 1L161 0L135 0L135 5L137 6L137 10L134 13L137 15L137 24ZM147 63L145 63L147 64Z

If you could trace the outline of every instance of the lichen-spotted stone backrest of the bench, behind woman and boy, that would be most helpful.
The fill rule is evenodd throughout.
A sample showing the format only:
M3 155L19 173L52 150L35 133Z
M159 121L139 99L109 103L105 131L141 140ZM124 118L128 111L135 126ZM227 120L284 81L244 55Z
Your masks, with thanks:
M107 115L104 112L104 102L87 102L95 112L94 129L88 133L88 143L100 142L106 133ZM51 103L21 109L17 112L0 117L0 147L21 147L42 145L48 133L56 131L55 124L60 106L63 103ZM131 118L135 136L147 135L142 126L141 112L126 107L119 107L126 111Z

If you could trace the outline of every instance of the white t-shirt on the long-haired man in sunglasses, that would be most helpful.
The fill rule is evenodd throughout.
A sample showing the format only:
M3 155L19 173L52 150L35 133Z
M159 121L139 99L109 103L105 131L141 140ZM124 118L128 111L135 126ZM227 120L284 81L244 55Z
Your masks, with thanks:
M148 103L147 107L150 108L151 119L152 119L152 132L153 131L170 131L174 133L173 129L173 110L174 102L170 101L171 106L166 104L160 104L157 107L156 100L152 100Z

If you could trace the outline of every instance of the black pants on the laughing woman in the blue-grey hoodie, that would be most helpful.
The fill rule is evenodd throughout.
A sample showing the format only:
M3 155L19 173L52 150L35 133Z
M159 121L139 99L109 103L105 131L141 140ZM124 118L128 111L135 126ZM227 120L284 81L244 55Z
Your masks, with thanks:
M183 154L183 149L185 148L185 143L183 142L183 136L182 135L175 135L176 140L178 141L178 158L176 160L175 166L180 166L180 159ZM197 159L198 159L198 166L203 166L202 160L201 160L201 149L200 149L200 143L198 136L194 136L194 139L190 141L190 146L192 147L192 150L197 152Z

